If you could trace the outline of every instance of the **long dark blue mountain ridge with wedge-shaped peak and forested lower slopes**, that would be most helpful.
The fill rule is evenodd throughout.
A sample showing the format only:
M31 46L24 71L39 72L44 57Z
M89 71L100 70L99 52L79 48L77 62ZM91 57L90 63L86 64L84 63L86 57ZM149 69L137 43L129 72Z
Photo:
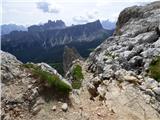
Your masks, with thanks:
M64 46L75 47L82 57L90 53L113 31L103 29L99 20L83 25L42 31L14 31L2 36L2 50L23 62L62 61Z

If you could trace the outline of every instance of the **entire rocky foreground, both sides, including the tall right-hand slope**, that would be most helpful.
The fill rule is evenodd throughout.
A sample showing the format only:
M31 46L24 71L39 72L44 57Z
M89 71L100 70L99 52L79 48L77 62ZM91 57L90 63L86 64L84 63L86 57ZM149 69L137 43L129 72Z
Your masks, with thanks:
M84 80L82 87L69 95L47 87L13 55L1 52L1 118L159 120L160 83L147 73L159 55L160 2L121 12L115 35L85 62L78 61ZM70 85L49 65L36 65Z

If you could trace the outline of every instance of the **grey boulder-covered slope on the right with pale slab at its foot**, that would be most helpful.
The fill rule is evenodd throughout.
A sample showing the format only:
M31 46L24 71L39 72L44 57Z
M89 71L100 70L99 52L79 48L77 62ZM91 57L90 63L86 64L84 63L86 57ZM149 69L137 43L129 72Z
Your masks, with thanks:
M160 56L159 30L160 2L126 8L115 36L90 54L88 69L95 78L88 90L104 98L119 119L160 119L160 83L147 73Z

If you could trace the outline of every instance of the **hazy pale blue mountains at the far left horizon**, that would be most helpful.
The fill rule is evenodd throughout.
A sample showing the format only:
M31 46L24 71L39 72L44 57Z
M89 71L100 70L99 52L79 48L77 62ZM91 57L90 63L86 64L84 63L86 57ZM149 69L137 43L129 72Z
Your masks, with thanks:
M0 26L1 33L0 35L9 34L12 31L27 31L27 28L23 25L16 24L4 24Z

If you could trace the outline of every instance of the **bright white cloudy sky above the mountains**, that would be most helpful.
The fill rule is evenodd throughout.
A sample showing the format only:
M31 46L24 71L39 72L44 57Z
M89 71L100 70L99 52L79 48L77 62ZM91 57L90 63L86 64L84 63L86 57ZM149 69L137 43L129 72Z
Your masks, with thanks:
M32 25L49 19L67 25L96 19L116 21L124 8L155 0L2 0L1 24Z

